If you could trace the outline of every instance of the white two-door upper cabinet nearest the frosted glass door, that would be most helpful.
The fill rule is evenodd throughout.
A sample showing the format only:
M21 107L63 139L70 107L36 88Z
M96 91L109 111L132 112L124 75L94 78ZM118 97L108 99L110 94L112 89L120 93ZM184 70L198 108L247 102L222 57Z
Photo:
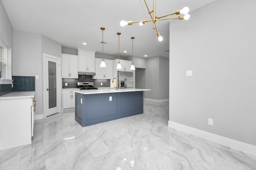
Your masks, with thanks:
M78 78L78 56L62 54L62 78Z

